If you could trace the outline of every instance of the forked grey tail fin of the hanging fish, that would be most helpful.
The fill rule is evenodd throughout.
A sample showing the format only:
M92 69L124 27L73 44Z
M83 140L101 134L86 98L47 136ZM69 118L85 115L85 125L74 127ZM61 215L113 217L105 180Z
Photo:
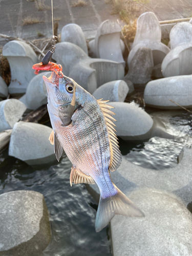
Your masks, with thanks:
M139 208L134 205L134 203L127 198L120 189L117 188L117 190L118 193L115 196L105 199L100 196L95 220L96 232L99 232L106 225L108 225L115 214L129 217L144 217L143 212L139 210Z

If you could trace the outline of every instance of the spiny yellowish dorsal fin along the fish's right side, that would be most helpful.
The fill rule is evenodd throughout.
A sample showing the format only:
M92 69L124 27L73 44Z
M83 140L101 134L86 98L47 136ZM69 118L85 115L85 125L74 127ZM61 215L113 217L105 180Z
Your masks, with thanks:
M97 102L100 105L100 108L103 112L106 126L108 127L109 139L110 139L110 151L111 151L111 161L109 169L114 172L119 165L121 164L121 152L119 150L117 135L115 134L115 129L113 126L115 124L113 121L116 121L112 115L115 115L110 109L114 108L113 106L106 105L106 102L109 100L98 99Z

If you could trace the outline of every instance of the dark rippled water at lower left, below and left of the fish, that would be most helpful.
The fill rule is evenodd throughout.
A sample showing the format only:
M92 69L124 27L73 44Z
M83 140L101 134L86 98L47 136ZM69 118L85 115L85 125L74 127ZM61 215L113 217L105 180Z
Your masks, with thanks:
M70 171L67 157L57 165L32 168L4 152L0 155L0 193L25 189L45 196L52 239L42 256L110 256L109 226L95 232L96 202L84 184L70 186Z

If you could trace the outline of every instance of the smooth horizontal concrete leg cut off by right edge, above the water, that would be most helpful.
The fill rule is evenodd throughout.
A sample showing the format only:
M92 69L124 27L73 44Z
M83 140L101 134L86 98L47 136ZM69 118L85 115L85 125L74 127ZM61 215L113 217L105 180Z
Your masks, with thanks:
M174 76L153 80L147 83L144 101L148 106L158 109L181 109L169 99L185 106L192 107L192 76Z

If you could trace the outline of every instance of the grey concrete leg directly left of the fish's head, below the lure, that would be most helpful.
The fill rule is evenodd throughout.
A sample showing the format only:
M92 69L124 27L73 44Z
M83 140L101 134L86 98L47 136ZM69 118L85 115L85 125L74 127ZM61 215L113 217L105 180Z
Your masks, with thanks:
M51 72L42 72L33 77L29 83L26 94L20 98L28 109L36 110L39 106L47 104L47 89L42 76L49 77Z

